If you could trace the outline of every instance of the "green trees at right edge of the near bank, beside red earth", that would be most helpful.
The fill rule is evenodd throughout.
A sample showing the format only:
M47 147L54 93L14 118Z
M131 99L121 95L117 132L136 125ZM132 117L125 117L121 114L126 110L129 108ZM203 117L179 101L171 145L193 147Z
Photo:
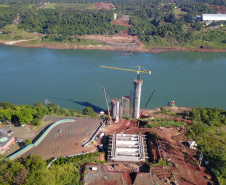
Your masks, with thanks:
M193 124L187 126L188 136L197 141L220 184L226 184L226 111L198 108L190 111L190 117Z

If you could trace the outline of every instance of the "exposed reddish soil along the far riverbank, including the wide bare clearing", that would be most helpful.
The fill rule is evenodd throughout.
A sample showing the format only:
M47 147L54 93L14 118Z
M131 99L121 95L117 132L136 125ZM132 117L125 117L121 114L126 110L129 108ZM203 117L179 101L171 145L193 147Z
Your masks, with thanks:
M0 40L0 44L3 45L14 45L18 47L29 47L29 48L39 48L45 47L49 49L99 49L99 50L111 50L111 51L132 51L132 52L151 52L151 53L161 53L164 51L190 51L190 52L226 52L226 48L214 49L214 48L198 48L198 49L187 49L181 46L152 46L152 48L147 49L146 46L140 41L137 36L131 36L128 34L120 34L115 36L103 36L103 35L85 35L80 36L81 39L89 39L93 41L99 41L102 44L97 45L76 45L68 43L38 43L29 44L30 40L17 40L17 41L5 41Z

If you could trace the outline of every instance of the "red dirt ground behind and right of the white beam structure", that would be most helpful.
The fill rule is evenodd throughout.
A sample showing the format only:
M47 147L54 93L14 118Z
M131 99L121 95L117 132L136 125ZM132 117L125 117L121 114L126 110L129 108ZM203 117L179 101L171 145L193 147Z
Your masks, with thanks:
M121 120L120 123L105 128L105 131L107 135L114 133L145 134L145 132L155 132L159 139L157 140L158 149L157 146L155 147L153 143L151 143L151 146L153 146L152 151L154 159L157 159L158 154L172 163L170 171L167 173L164 171L156 171L156 167L152 169L152 173L156 173L155 175L157 177L155 177L159 182L158 184L164 184L160 179L167 180L167 177L173 178L173 180L177 181L180 185L206 185L208 182L214 184L214 182L209 180L211 175L208 174L207 169L197 166L197 152L185 147L181 143L187 141L186 138L184 138L184 129L175 127L157 127L150 129L138 128L135 125L136 122L134 123L134 121Z

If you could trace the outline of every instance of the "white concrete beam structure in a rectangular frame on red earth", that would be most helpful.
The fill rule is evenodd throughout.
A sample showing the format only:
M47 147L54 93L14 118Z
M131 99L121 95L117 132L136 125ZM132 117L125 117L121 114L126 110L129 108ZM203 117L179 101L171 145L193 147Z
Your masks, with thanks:
M108 159L118 162L145 162L148 159L145 135L109 136Z

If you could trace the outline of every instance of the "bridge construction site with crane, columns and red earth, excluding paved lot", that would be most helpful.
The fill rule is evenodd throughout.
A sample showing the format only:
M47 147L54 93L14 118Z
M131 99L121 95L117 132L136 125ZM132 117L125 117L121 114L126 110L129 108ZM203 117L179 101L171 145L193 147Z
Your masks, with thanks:
M160 108L146 110L156 91L154 89L145 107L140 109L143 84L140 73L150 74L151 71L141 71L140 66L137 66L138 70L101 67L137 72L137 79L133 80L133 96L112 99L111 110L105 88L102 87L108 109L108 122L99 130L94 142L99 150L104 151L101 159L107 161L107 164L87 164L85 167L89 170L84 173L83 183L87 185L216 184L211 172L200 161L197 144L186 138L186 127L145 127L163 119L191 124L191 120L186 118L189 108L178 108L173 100L165 109L183 117L161 113ZM122 119L123 117L133 119ZM147 118L149 121L142 122L141 118Z

